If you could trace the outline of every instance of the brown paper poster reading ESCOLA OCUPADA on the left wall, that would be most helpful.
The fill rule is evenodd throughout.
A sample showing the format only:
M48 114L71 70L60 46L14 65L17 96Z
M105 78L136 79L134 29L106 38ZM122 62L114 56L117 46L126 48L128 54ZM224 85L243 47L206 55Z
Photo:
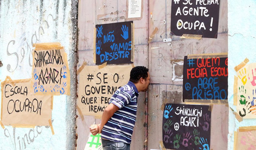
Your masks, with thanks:
M31 95L31 79L1 83L1 120L5 126L49 126L53 96Z

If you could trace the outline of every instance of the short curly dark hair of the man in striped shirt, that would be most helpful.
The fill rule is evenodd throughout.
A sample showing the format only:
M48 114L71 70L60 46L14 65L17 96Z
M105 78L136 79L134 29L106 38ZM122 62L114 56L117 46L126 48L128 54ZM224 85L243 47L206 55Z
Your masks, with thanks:
M147 79L148 68L144 66L136 66L132 68L130 73L130 81L133 83L138 83L140 78Z

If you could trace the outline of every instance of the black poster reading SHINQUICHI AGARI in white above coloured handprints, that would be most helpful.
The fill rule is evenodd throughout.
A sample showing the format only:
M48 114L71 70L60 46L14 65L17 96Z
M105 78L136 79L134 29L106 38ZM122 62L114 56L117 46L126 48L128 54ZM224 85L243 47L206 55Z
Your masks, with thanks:
M211 106L166 104L163 143L168 149L210 150Z

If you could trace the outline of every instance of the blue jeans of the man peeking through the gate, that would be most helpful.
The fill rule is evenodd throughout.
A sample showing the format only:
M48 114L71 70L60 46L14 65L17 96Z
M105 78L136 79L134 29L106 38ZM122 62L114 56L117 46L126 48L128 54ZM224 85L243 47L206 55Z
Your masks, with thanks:
M130 144L101 139L103 150L130 150Z

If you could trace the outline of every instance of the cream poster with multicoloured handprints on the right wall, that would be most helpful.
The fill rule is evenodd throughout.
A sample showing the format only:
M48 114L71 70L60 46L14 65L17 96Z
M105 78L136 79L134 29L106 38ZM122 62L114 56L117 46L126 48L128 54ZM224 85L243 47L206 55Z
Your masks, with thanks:
M243 66L237 77L237 113L243 119L256 118L256 63Z

